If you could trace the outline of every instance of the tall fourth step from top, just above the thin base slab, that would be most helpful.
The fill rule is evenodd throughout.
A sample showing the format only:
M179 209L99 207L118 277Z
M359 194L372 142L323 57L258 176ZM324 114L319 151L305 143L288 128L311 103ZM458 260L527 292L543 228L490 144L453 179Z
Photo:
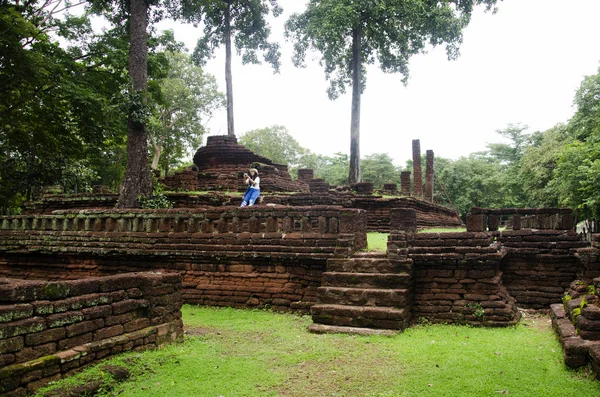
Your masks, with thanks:
M325 325L404 329L407 323L404 309L393 307L316 304L310 311L315 323Z

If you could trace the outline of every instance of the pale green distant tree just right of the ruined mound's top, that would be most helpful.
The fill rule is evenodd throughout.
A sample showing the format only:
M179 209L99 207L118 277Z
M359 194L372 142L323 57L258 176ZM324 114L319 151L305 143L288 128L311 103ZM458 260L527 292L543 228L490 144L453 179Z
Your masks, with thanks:
M282 125L248 131L240 137L240 143L254 153L290 168L297 168L302 156L308 152Z

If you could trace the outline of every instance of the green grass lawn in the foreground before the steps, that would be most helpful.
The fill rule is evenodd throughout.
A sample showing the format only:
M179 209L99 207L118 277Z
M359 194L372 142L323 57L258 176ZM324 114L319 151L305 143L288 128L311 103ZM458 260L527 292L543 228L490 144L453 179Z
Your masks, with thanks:
M186 305L183 314L184 342L109 360L132 377L100 395L600 396L600 382L564 366L543 316L367 337L310 334L310 317L268 311ZM100 376L100 367L59 384Z

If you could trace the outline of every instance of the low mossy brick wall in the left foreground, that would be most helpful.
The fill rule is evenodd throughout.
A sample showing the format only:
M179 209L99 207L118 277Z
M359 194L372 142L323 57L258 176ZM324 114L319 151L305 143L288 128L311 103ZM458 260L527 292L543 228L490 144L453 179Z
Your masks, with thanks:
M112 354L181 337L181 276L0 279L0 394L25 395Z

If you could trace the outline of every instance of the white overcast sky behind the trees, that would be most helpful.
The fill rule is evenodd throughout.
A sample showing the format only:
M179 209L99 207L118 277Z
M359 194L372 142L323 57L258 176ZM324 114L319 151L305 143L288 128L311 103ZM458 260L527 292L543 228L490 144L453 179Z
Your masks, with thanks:
M273 124L285 126L304 147L332 155L350 150L350 91L327 97L323 68L315 54L306 69L291 63L283 24L305 1L280 0L284 13L272 23L271 39L282 45L281 73L269 65L242 65L234 56L236 135ZM600 65L600 0L504 0L497 14L477 10L464 30L461 55L448 61L445 47L412 58L408 86L401 75L367 72L362 96L361 157L388 153L397 165L421 151L456 159L500 141L495 133L509 123L543 131L566 122L583 76ZM193 50L201 34L191 25L163 22ZM224 50L205 71L225 91ZM209 123L210 135L227 133L225 109Z

